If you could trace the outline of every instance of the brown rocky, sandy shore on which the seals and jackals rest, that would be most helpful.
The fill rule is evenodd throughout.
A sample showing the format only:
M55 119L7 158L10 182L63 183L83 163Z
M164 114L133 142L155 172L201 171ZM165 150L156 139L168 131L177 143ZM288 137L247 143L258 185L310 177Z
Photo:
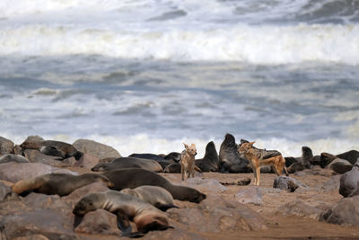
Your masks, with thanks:
M206 200L200 203L175 200L180 209L169 209L165 213L173 228L150 231L144 238L359 236L359 191L352 184L359 182L356 174L359 165L354 161L357 151L338 156L328 153L313 156L303 147L301 157L286 157L291 169L289 177L276 177L263 167L261 185L246 186L249 178L253 180L253 173L244 167L241 156L231 152L237 144L234 138L228 138L224 139L218 154L214 145L208 144L206 155L197 162L203 173L197 173L195 178L181 182L180 173L158 173L173 184L205 193ZM29 139L45 141L39 137ZM76 202L89 192L109 190L101 182L88 184L63 197L36 192L22 197L12 192L14 182L47 173L93 173L91 169L95 165L121 157L116 149L79 139L71 146L82 156L59 159L65 156L60 147L51 149L57 151L57 156L50 156L43 148L23 146L0 137L0 239L118 239L121 232L116 216L104 209L86 214L79 225L75 224L72 210ZM176 164L176 157L170 155L175 156L168 153L161 157ZM346 192L345 198L339 191Z

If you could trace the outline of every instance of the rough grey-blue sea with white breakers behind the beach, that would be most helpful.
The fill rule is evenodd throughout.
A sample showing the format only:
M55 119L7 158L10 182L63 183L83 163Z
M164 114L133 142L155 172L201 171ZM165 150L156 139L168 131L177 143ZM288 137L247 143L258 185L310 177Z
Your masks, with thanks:
M358 149L358 22L358 1L4 0L0 136Z

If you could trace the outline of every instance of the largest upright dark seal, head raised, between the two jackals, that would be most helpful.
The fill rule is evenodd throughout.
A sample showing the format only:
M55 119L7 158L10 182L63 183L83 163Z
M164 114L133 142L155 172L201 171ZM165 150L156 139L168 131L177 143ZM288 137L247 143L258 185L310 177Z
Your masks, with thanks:
M232 134L227 133L219 149L219 164L221 173L250 172L250 162L240 156L237 147L235 138Z

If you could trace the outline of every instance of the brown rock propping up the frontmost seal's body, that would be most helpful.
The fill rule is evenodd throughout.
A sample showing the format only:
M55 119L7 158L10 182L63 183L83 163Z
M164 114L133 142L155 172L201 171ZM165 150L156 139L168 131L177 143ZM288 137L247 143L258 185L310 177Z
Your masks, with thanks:
M74 228L76 233L91 235L120 235L116 215L105 209L96 209L87 213L79 226Z

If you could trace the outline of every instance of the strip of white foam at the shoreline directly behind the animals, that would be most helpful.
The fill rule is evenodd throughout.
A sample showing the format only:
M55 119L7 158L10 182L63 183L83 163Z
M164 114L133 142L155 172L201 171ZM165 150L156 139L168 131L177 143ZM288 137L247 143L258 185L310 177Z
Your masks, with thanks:
M13 140L15 144L21 144L27 136L13 136L12 134L1 133L0 136ZM45 139L65 141L73 143L77 138L67 135L41 136ZM236 136L239 142L241 136ZM196 144L197 158L205 156L206 144L210 141L215 142L217 152L219 152L223 139L220 138L186 138L179 136L178 139L170 140L166 138L152 138L146 134L137 134L134 136L101 136L89 135L80 138L92 139L102 144L114 147L121 156L129 156L133 153L153 153L169 154L171 152L181 152L183 143ZM252 139L250 139L252 140ZM277 149L283 156L302 156L302 147L311 147L313 155L320 155L322 152L328 152L334 155L359 149L359 141L356 139L338 139L325 138L313 141L291 141L285 138L256 139L256 147L266 149Z

